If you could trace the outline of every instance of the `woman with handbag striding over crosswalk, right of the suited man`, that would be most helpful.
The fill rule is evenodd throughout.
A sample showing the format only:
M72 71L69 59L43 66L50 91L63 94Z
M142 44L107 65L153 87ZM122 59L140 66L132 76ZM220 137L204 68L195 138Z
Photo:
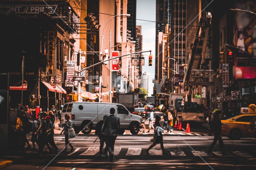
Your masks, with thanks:
M161 120L160 116L156 115L154 139L153 139L152 145L150 145L148 147L148 149L145 150L145 152L147 154L150 154L149 150L152 149L154 146L156 146L156 144L159 144L159 143L160 143L160 147L162 149L162 154L163 155L167 155L168 154L164 150L164 142L163 142L163 136L162 136L162 133L164 133L164 129L160 125L160 122L159 122L160 120Z

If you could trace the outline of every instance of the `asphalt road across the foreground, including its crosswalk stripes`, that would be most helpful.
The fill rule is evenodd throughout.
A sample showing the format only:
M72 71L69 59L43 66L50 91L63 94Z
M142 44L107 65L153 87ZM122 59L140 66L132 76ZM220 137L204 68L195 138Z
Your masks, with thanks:
M30 134L28 134L29 137ZM150 134L119 135L115 143L114 162L108 157L99 156L99 140L93 143L96 136L79 134L72 139L73 152L60 152L59 154L45 154L38 156L34 151L28 150L26 155L10 153L8 157L14 163L6 170L131 170L131 169L255 169L256 168L256 139L243 138L232 141L223 137L228 156L222 156L218 144L213 149L214 155L206 154L213 137L207 133L185 133L173 131L164 134L164 148L168 155L162 155L160 145L150 150L147 155L144 150L152 143ZM60 151L64 148L64 136L56 134L54 137ZM71 140L70 140L71 141ZM70 147L68 147L70 150Z

